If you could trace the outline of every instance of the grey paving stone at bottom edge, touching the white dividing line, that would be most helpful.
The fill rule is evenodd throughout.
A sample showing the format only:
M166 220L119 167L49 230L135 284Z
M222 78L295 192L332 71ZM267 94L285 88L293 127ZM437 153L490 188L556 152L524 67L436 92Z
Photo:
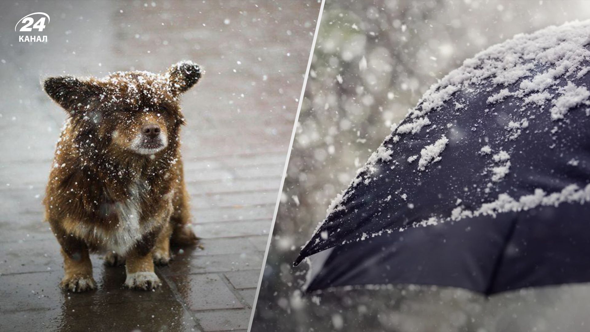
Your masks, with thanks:
M251 311L215 310L194 313L205 331L230 331L248 328Z

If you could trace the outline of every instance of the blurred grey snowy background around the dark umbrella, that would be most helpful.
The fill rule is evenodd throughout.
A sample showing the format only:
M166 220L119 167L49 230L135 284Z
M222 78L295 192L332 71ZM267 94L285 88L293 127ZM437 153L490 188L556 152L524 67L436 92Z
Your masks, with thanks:
M252 331L584 330L585 285L489 299L440 287L311 296L299 291L306 264L291 264L330 201L437 79L515 34L588 18L589 1L326 0Z

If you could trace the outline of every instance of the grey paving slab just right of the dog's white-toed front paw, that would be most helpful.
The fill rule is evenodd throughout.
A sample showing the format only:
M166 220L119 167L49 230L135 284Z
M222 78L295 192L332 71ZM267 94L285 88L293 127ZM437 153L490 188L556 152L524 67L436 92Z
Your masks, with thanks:
M178 275L170 278L191 310L244 308L217 274Z

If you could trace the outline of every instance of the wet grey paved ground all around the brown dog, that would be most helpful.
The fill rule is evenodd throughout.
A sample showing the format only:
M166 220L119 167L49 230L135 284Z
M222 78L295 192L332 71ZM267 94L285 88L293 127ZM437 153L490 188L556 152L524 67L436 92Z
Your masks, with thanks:
M317 2L0 4L0 330L226 331L248 326L309 57ZM48 43L19 43L31 12ZM183 97L183 159L201 248L175 248L153 292L93 255L98 289L67 294L41 200L65 113L41 77L206 70ZM9 79L6 79L6 78Z

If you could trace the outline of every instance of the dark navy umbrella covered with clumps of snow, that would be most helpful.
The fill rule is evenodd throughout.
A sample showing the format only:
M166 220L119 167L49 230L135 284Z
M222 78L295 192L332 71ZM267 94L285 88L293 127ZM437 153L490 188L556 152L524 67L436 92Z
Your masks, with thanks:
M589 48L590 21L548 27L434 84L301 250L307 290L590 281Z

